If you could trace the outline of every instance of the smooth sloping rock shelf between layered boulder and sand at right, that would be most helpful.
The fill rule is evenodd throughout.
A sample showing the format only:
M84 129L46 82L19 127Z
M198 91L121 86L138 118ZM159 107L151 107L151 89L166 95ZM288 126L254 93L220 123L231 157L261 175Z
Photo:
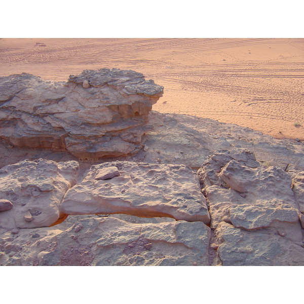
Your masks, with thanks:
M149 149L141 149L134 156L140 162L157 163L160 159L162 163L199 169L214 151L238 147L250 150L258 162L271 163L282 170L287 165L288 170L304 170L304 145L295 144L291 139L275 139L250 128L154 110L149 113L148 125L153 131L144 135L143 142ZM240 137L246 140L240 140ZM175 159L179 154L180 158Z

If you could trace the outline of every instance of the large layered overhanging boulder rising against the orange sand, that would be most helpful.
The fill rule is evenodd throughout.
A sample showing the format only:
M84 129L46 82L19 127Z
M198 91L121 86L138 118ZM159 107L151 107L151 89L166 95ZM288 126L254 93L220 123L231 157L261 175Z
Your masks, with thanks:
M0 78L0 137L67 150L81 160L136 153L163 87L131 70L84 70L68 82L31 74Z

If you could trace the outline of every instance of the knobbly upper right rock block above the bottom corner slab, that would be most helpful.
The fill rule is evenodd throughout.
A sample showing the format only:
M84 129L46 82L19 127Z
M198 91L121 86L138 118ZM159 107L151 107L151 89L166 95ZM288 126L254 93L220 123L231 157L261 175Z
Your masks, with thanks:
M242 154L250 155L251 167L245 165L244 158L239 160ZM217 151L198 173L209 202L211 227L217 228L222 221L246 230L275 227L301 244L298 205L286 172L277 167L256 167L252 154L235 149Z

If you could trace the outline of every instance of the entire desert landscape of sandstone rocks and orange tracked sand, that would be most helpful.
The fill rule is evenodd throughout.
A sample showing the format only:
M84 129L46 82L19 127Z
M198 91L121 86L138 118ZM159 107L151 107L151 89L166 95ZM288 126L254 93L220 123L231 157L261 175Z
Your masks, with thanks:
M0 39L1 265L304 265L302 39Z

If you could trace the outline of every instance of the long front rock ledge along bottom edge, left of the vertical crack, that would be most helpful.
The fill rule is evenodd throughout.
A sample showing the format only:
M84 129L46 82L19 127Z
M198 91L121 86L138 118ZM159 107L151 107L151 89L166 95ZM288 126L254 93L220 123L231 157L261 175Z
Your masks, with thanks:
M59 224L0 235L0 264L209 265L210 235L202 222L134 224L90 217L68 229Z

